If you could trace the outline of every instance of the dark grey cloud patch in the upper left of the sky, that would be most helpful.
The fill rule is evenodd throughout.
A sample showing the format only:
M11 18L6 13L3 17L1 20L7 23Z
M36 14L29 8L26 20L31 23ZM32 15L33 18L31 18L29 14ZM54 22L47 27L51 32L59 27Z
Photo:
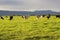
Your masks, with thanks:
M23 2L17 0L0 0L0 5L17 6L17 5L23 5Z

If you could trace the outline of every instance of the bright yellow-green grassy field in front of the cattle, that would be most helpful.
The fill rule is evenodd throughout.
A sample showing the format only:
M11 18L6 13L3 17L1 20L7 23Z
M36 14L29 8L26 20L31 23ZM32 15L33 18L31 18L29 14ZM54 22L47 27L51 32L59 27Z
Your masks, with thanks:
M0 40L60 40L60 18L14 16L13 20L8 19L0 19Z

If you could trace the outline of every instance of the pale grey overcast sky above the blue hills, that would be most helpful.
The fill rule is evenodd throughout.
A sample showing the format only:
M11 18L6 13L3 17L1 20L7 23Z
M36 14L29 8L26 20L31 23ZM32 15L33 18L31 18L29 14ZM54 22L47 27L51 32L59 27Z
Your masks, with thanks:
M0 0L0 10L60 11L60 0Z

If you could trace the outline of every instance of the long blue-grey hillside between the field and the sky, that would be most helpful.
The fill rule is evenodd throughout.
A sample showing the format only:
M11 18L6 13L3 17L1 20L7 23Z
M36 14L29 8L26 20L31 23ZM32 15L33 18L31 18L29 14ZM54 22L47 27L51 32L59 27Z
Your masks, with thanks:
M30 15L60 15L60 12L55 12L51 10L36 10L34 12L31 11L5 11L5 10L0 10L0 16L12 16L12 15L25 15L25 16L30 16Z

